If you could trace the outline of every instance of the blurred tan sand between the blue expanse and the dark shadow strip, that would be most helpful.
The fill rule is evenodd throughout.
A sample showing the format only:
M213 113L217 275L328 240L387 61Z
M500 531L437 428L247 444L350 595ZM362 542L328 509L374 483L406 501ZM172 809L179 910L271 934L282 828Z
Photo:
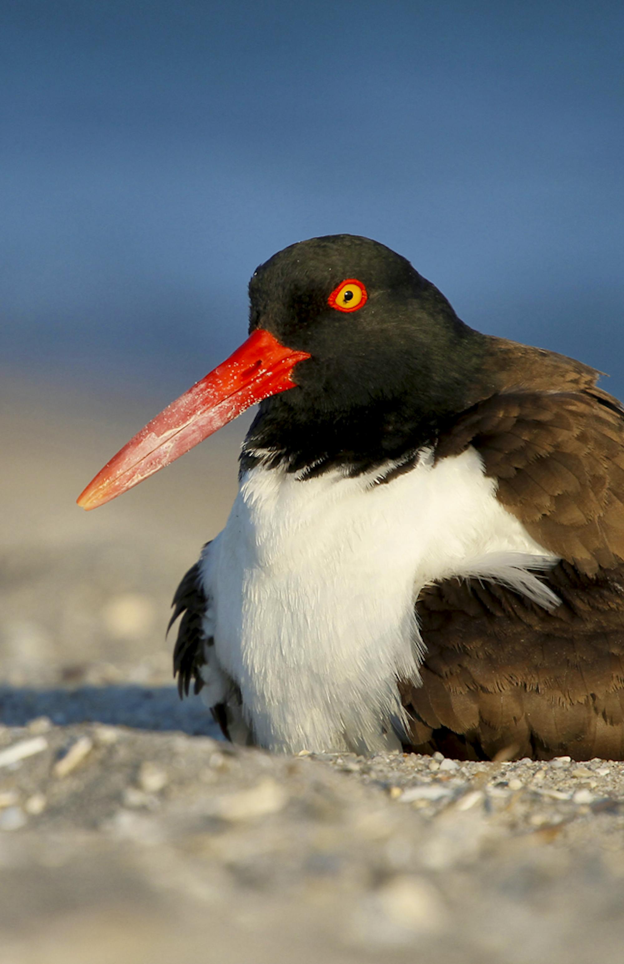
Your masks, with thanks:
M79 509L157 404L2 379L0 683L172 683L170 603L228 517L250 416L108 505Z

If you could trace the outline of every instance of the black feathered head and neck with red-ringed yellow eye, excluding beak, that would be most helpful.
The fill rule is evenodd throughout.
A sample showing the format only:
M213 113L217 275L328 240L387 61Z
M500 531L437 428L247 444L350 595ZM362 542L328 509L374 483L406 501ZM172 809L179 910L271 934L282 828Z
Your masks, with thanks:
M470 404L484 336L390 248L350 234L302 241L260 265L249 293L250 332L311 358L294 368L297 388L262 402L243 468L262 449L291 471L357 473L433 441Z

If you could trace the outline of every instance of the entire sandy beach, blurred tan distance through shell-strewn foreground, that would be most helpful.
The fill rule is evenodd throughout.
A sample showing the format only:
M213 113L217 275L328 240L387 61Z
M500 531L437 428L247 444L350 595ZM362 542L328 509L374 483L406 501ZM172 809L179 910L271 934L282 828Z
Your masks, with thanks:
M157 403L1 394L2 964L619 964L622 763L232 748L164 633L244 424L85 514Z

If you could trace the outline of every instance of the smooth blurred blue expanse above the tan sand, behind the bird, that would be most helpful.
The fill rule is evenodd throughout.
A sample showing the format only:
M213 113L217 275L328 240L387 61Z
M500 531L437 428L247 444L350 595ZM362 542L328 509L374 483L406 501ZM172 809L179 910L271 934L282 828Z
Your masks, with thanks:
M604 0L4 0L3 365L167 401L258 262L349 231L624 394L623 36Z

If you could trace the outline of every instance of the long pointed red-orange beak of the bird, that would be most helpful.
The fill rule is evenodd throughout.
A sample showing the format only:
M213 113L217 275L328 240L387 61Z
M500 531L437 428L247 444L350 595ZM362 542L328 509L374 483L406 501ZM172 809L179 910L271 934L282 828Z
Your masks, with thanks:
M292 369L297 362L309 358L307 352L286 348L269 332L258 329L229 359L176 398L127 442L95 475L78 497L78 505L95 509L122 495L251 405L294 388Z

